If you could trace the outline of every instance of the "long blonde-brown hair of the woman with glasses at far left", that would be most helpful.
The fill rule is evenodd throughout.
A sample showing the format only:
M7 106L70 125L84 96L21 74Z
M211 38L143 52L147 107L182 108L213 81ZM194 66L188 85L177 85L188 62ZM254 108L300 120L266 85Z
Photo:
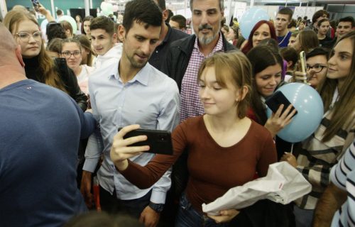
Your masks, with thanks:
M38 26L38 22L31 15L31 13L27 13L25 11L9 11L9 13L6 13L6 16L4 18L4 25L14 35L18 27L18 23L26 20L32 21ZM56 72L55 70L55 65L52 58L47 54L47 52L45 52L44 41L42 41L42 44L40 46L38 62L40 70L43 72L43 82L52 87L56 87L62 90L63 92L67 92L64 87L64 84L62 83L62 80L59 77L58 72Z

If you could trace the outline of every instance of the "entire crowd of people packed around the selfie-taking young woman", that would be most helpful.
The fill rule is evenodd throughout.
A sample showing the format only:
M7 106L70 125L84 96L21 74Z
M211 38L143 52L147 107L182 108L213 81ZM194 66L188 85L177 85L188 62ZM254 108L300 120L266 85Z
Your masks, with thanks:
M46 31L24 7L6 13L0 226L355 226L354 18L332 27L327 11L311 22L283 8L243 37L237 21L225 24L223 0L190 9L186 19L164 0L131 0L121 23L75 16L77 31L43 6ZM294 145L278 133L297 110L266 111L291 82L316 89L324 106ZM146 135L125 137L138 128L171 132L173 155L135 145ZM275 162L312 191L204 214L202 204Z

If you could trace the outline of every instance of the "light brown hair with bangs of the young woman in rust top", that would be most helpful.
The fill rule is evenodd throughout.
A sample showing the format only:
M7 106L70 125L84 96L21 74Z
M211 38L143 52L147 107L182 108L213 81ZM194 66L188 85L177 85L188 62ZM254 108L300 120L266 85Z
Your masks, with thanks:
M249 108L251 91L252 71L249 60L242 52L218 52L202 62L197 79L201 78L202 72L207 67L214 67L217 82L221 87L226 87L231 82L236 88L244 86L248 88L246 96L238 103L236 113L239 118L244 118Z

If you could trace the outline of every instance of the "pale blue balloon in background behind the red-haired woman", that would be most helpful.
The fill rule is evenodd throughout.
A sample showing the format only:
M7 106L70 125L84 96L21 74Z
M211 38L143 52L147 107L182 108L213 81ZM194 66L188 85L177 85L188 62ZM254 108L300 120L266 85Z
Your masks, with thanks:
M268 21L270 17L268 12L264 9L253 7L246 11L240 19L241 35L243 35L246 40L249 38L251 30L259 21Z

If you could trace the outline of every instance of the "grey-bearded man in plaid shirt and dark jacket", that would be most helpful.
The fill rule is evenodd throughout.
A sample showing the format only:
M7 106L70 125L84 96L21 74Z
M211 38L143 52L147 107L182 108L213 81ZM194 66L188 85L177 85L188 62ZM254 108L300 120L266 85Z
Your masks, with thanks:
M214 52L234 50L220 32L224 16L223 0L190 0L195 35L170 45L162 71L178 83L181 96L180 122L204 114L198 96L197 72Z

